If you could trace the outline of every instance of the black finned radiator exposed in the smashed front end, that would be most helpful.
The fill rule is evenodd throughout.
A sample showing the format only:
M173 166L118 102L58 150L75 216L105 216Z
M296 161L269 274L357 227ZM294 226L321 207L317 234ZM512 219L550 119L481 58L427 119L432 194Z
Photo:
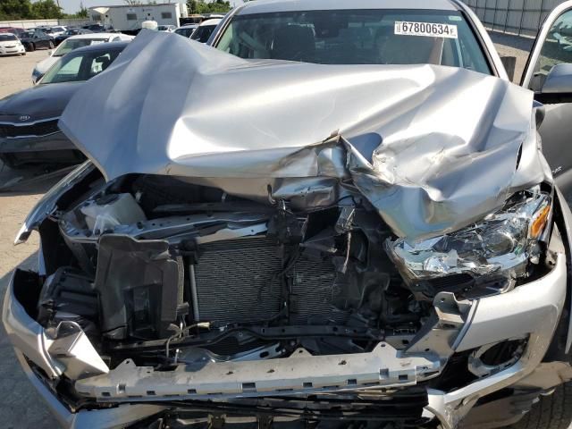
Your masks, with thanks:
M200 246L195 265L198 313L203 322L252 323L272 319L281 309L285 277L276 241L265 237L225 240ZM274 277L274 279L273 279ZM286 274L290 284L290 324L343 324L349 312L332 306L330 259L299 257Z

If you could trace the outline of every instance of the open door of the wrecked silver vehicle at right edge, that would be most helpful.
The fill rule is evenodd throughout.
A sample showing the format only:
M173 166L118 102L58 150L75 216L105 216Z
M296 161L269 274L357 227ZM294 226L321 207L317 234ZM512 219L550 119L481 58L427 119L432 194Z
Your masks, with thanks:
M543 153L559 188L572 203L572 1L546 18L528 57L521 85L544 105L539 128Z

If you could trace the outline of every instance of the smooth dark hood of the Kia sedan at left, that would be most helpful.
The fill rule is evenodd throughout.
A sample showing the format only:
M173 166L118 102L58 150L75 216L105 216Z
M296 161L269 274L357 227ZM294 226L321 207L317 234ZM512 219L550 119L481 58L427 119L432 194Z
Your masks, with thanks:
M0 99L0 120L18 121L28 115L29 121L58 117L82 82L50 83L24 89Z

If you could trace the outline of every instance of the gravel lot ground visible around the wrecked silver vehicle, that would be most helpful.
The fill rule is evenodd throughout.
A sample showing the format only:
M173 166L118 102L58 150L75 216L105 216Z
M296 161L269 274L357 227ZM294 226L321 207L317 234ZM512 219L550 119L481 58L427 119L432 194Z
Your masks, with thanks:
M519 80L532 39L492 34L495 46L501 55L517 56L516 81ZM46 57L46 51L36 51L23 57L0 58L0 98L23 88L29 88L31 71L35 63ZM31 177L38 172L24 172ZM0 164L0 186L18 177ZM24 265L33 268L36 265L38 237L34 233L28 242L13 247L13 238L29 209L34 206L46 189L55 182L39 180L26 186L13 188L11 192L0 193L0 297L9 281L13 268ZM13 354L10 341L4 328L0 327L0 391L4 398L0 401L0 416L4 428L57 427L55 419L49 414L36 391L28 383Z

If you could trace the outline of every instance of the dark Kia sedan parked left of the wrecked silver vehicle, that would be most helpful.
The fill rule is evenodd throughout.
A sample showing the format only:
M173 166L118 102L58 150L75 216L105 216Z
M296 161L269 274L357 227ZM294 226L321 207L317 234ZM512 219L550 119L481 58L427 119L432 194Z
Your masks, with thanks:
M84 158L57 122L71 96L104 71L127 42L85 46L58 58L33 88L0 100L0 159L27 164L78 164Z

